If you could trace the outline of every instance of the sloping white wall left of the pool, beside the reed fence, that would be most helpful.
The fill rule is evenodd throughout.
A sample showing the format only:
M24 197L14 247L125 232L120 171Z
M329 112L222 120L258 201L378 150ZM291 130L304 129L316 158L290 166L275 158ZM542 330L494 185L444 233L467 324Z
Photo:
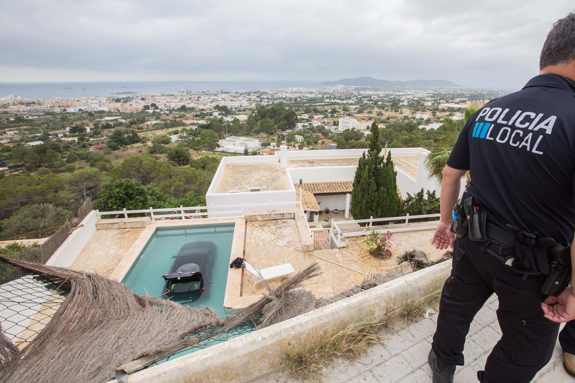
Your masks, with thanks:
M58 267L70 267L78 258L90 238L96 232L96 221L98 216L96 211L92 210L82 220L78 227L66 238L59 248L52 254L46 265ZM83 225L83 227L80 227Z

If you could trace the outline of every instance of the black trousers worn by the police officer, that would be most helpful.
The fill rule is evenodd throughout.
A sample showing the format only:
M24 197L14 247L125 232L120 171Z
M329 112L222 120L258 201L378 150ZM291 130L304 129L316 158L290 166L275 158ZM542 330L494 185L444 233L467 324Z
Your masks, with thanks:
M432 348L443 365L463 365L463 346L473 317L496 293L497 319L503 336L487 358L481 382L530 382L553 354L559 324L546 319L540 303L540 275L526 280L487 249L501 244L468 238L455 240L451 276L443 285Z

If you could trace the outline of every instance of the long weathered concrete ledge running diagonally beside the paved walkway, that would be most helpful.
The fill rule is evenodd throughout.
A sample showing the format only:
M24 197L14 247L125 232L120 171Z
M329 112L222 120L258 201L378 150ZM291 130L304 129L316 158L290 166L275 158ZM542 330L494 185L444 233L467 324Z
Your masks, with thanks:
M355 321L379 320L443 287L451 261L345 298L262 330L172 359L128 376L136 382L248 382L279 370L290 344Z

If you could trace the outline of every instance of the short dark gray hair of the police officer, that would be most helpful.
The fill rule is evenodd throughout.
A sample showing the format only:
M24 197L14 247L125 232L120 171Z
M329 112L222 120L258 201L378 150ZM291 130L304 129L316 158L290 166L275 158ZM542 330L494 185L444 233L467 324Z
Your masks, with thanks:
M575 12L559 19L549 31L541 56L539 69L561 65L575 60Z

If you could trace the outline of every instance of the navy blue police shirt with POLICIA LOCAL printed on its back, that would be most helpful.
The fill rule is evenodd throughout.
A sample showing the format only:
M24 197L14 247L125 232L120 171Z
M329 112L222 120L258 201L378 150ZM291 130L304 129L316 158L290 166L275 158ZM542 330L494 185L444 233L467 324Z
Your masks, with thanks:
M447 164L488 221L571 243L575 231L575 81L555 74L489 102L467 121Z

